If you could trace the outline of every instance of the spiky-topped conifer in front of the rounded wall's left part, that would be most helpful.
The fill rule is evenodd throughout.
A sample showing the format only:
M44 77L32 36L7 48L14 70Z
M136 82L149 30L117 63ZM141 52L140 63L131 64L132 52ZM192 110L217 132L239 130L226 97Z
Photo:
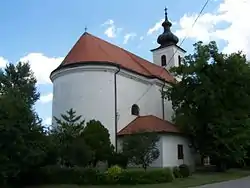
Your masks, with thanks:
M52 129L52 136L63 165L86 166L90 160L91 151L82 134L85 120L80 120L81 117L76 116L76 111L72 108L66 114L61 114L61 119L54 117L56 125Z

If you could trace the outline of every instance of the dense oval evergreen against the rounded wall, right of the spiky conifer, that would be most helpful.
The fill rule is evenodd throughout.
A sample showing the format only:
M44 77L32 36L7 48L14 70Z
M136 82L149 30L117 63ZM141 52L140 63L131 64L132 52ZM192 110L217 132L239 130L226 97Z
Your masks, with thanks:
M100 121L90 120L86 124L83 136L93 152L92 165L96 166L99 161L107 161L113 150L108 129Z

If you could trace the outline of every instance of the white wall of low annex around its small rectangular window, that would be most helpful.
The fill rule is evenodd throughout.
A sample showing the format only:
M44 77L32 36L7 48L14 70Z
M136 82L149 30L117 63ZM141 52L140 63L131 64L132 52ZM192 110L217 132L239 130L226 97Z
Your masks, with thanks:
M162 135L163 167L174 167L181 164L194 166L195 160L189 141L180 135ZM178 144L183 145L184 159L178 159Z

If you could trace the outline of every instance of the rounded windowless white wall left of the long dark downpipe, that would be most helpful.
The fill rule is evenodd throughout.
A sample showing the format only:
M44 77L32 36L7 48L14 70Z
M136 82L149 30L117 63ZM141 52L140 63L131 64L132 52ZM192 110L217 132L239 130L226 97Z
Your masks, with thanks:
M115 143L114 121L114 71L83 67L61 71L53 81L52 115L73 108L77 115L87 121L96 119L109 130L111 142ZM59 74L57 74L59 75Z

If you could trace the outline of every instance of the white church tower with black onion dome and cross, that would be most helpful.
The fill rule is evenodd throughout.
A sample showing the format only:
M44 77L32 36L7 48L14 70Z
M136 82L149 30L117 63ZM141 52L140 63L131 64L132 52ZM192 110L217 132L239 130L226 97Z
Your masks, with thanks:
M162 23L164 31L157 38L160 46L151 50L153 52L153 62L169 70L181 64L185 55L185 50L177 45L179 39L171 32L172 23L168 20L167 8L165 8L165 20Z

